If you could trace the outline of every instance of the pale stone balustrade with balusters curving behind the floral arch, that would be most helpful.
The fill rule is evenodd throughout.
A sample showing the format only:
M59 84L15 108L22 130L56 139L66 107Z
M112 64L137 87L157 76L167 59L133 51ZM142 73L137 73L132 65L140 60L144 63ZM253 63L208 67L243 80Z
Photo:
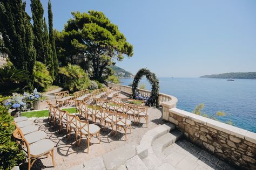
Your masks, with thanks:
M118 89L127 95L132 95L132 87L130 87L130 86L123 86L120 84L114 84L114 83L110 83L110 82L106 82L106 85L107 85L107 87ZM144 97L151 95L151 91L149 91L149 90L138 89L138 92L139 92L139 94L141 94ZM178 102L178 99L176 97L167 95L167 94L163 94L163 93L159 93L158 103L163 106L165 105L166 108L168 108L167 112L170 108L176 108L177 102ZM166 114L168 115L167 112L166 112ZM168 117L167 115L166 115L166 117Z

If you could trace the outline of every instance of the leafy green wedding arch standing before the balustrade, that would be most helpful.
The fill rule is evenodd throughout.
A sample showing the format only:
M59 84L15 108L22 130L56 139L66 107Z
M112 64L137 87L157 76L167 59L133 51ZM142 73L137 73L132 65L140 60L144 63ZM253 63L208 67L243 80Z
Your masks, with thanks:
M142 76L145 76L147 80L151 84L151 96L149 100L147 101L147 104L150 106L159 107L158 103L158 95L159 95L159 80L157 79L156 74L151 73L149 69L142 68L138 70L137 74L134 76L133 83L132 83L132 98L135 98L136 91L138 89L138 83L140 79L142 79Z

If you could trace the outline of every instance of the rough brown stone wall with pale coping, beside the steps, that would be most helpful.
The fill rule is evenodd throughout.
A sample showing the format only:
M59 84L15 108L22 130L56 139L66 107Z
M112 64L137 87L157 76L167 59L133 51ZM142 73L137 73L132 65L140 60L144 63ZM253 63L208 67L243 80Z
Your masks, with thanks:
M256 133L177 108L169 109L169 121L219 158L239 169L256 169Z

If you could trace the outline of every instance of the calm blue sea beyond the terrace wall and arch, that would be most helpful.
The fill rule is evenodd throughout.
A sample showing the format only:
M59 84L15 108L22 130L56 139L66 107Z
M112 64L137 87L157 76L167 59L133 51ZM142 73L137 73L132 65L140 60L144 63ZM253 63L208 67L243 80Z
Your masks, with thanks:
M133 79L121 81L127 86ZM163 77L159 83L161 93L178 98L177 108L192 112L196 105L204 103L204 114L212 116L223 111L226 115L218 116L220 121L231 121L234 126L256 132L256 80ZM140 84L151 90L145 77Z

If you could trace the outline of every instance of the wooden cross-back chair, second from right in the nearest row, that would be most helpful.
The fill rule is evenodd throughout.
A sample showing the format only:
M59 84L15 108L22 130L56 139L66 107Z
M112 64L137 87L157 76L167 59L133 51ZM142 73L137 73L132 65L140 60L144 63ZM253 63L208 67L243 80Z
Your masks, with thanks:
M116 134L117 135L117 129L119 127L124 129L125 131L125 140L127 139L127 129L130 128L130 133L131 133L131 121L127 119L127 114L121 113L121 112L114 112L114 116L116 117Z

